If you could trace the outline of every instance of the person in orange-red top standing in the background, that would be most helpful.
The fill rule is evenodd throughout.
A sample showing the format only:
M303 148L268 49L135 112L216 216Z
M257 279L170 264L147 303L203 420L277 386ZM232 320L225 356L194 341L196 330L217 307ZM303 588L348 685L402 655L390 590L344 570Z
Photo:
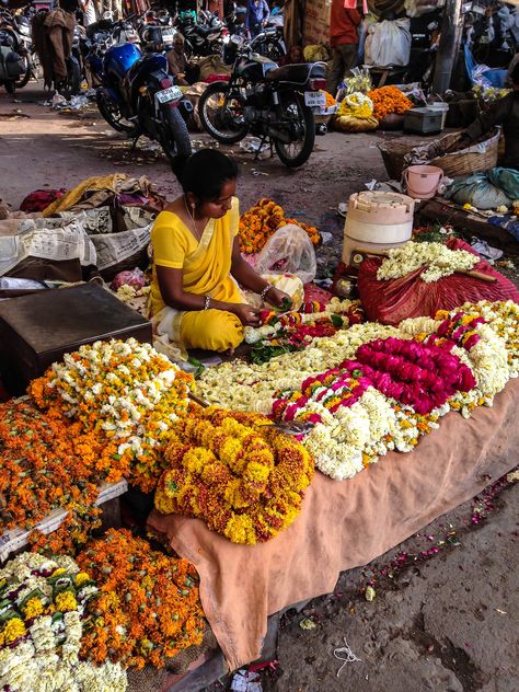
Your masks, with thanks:
M347 72L355 66L357 58L359 33L362 21L360 12L348 10L344 0L332 0L330 16L330 45L332 47L332 71L328 77L327 91L333 96Z

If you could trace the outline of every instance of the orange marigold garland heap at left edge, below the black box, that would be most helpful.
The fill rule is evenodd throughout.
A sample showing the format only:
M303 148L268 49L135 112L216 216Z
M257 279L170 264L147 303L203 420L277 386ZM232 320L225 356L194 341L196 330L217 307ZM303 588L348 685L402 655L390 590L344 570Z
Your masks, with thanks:
M51 549L84 543L100 523L99 486L120 481L127 470L117 445L84 432L59 412L42 412L28 397L0 405L0 532L33 529L64 508L69 514Z

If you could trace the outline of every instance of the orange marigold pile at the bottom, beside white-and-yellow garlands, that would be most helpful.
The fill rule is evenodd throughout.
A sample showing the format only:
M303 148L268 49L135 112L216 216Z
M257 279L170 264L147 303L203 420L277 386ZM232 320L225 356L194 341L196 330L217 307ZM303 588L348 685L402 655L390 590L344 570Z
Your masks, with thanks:
M163 668L203 641L198 575L186 560L154 551L125 529L89 543L78 564L96 581L82 653L96 664Z

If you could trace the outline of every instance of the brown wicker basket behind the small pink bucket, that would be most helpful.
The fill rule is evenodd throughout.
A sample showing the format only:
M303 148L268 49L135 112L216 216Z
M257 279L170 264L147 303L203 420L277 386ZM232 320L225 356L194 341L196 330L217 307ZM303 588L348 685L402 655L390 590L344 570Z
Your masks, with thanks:
M440 139L442 145L452 145L459 135L446 135ZM471 175L495 168L497 164L497 151L499 147L499 130L478 145L471 145L466 149L446 153L429 161L430 165L437 165L449 177L457 175Z

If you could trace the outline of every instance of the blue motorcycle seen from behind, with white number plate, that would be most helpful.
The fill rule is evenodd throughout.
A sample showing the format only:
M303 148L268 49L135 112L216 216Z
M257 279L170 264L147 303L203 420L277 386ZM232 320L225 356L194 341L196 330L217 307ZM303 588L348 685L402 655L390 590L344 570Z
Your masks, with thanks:
M136 140L141 135L157 140L172 164L191 155L185 118L193 106L168 74L163 55L142 55L129 43L108 48L96 102L115 130Z

